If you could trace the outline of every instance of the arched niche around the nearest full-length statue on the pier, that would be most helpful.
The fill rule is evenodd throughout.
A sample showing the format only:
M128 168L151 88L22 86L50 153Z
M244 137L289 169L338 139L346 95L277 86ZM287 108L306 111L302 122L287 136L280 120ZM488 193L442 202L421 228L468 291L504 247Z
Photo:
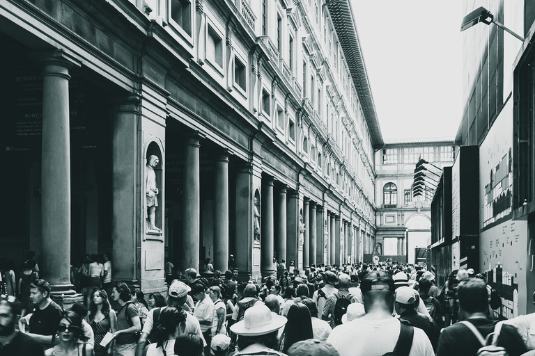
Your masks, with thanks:
M157 157L157 164L154 165L154 167L149 167L149 163L153 163L152 157ZM162 208L163 208L163 202L164 202L164 195L163 195L163 162L162 162L162 150L160 149L160 145L158 145L155 141L151 142L147 146L147 151L145 155L145 175L144 175L144 207L145 207L145 231L147 234L150 235L162 235L162 229L163 229L163 216ZM152 170L150 169L152 168ZM152 176L152 172L154 172L154 177ZM155 186L157 188L157 192L152 191L150 193L153 183L153 179L155 182ZM150 197L153 193L156 193L153 199ZM155 206L154 208L154 225L155 227L151 226L151 207Z

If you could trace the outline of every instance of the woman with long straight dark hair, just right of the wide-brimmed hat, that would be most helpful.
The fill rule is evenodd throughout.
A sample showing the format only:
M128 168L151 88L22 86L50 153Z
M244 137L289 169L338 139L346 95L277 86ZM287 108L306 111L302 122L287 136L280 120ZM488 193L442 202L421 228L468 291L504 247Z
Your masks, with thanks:
M288 353L288 348L297 341L313 339L312 319L309 308L303 303L295 303L288 310L288 322L279 339L279 352Z

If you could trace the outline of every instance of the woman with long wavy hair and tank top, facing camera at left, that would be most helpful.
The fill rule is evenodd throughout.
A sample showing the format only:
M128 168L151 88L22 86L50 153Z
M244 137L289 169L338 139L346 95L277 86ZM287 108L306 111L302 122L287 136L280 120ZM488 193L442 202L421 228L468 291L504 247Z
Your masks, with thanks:
M109 306L108 295L104 289L95 291L89 302L88 323L95 334L95 356L104 356L108 352L109 345L100 346L107 332L115 332L116 315L114 309Z

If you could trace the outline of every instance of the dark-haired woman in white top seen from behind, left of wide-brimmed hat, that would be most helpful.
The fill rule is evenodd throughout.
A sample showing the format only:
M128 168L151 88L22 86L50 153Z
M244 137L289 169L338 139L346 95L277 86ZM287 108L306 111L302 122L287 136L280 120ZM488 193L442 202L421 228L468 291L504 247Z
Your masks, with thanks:
M186 321L186 312L180 307L166 307L160 312L156 342L147 348L146 356L171 356L175 354L175 340L183 333L180 324Z

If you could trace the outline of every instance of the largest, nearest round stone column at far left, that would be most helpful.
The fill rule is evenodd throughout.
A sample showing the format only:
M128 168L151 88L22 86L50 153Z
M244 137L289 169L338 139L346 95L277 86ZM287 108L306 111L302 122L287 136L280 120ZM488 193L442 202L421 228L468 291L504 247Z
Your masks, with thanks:
M74 296L70 283L69 70L79 63L61 51L42 54L38 59L43 66L41 233L46 258L42 260L42 277L54 294Z

